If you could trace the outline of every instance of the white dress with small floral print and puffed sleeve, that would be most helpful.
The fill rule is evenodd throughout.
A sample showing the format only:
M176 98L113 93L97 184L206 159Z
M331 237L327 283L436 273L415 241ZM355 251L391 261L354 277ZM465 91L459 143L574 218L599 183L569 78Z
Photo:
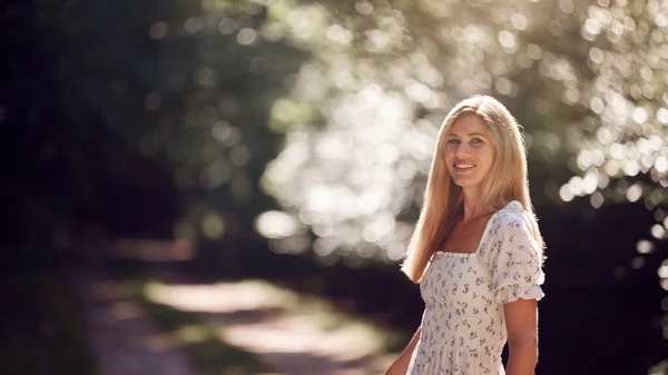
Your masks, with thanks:
M439 251L420 284L425 309L409 375L502 375L503 304L541 299L540 247L512 201L492 215L475 253Z

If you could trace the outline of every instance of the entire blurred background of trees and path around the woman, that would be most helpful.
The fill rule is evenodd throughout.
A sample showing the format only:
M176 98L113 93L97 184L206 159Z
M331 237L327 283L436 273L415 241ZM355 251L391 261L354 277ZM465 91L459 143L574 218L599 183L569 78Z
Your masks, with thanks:
M381 374L438 128L524 127L537 373L668 374L668 1L0 6L0 373Z

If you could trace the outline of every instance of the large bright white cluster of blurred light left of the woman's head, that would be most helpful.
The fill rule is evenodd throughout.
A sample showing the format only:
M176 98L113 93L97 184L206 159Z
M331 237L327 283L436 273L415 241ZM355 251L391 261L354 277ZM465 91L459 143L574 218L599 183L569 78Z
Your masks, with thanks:
M414 60L421 58L416 55ZM315 75L314 69L311 66L303 73ZM433 79L439 80L435 76ZM327 109L328 131L303 126L289 132L285 149L267 166L265 190L275 193L285 206L298 207L296 218L301 224L320 225L314 230L331 237L316 241L316 254L354 250L363 258L382 258L384 251L355 245L367 241L386 247L399 240L392 235L392 226L383 226L389 223L387 208L394 223L393 216L413 195L407 182L418 172L418 162L423 169L430 162L434 140L425 132L435 128L420 120L416 127L421 131L416 131L415 125L406 121L411 101L431 100L432 90L415 80L407 81L405 90L407 97L402 98L379 85L365 85ZM281 121L293 108L285 106L276 112ZM321 165L326 166L326 172ZM353 233L347 223L351 219L360 219L365 229ZM271 227L275 230L281 225ZM342 244L345 247L338 246Z

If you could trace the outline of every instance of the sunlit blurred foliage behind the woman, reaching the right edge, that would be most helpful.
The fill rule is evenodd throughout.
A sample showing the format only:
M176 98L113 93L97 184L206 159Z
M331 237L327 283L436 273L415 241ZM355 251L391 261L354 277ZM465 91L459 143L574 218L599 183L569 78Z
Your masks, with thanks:
M435 131L473 93L499 97L523 125L537 206L668 200L658 1L273 7L266 29L313 53L289 100L324 119L283 125L264 186L313 228L320 255L403 255Z

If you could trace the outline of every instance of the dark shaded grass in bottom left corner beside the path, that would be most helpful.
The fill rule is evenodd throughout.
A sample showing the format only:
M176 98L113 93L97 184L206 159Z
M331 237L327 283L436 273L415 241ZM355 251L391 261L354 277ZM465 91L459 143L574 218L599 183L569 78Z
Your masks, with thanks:
M62 275L46 267L0 273L0 374L88 375L96 361Z

